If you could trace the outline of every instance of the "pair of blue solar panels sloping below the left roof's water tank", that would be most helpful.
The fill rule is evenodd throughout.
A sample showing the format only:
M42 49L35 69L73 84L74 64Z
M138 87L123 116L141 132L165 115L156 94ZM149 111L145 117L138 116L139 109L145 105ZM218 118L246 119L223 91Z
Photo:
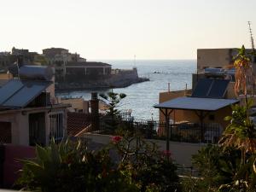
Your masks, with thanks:
M4 90L8 90L3 97L4 101L0 104L2 107L24 108L36 96L40 95L49 84L51 84L49 81L12 80L0 89L0 96L2 96Z

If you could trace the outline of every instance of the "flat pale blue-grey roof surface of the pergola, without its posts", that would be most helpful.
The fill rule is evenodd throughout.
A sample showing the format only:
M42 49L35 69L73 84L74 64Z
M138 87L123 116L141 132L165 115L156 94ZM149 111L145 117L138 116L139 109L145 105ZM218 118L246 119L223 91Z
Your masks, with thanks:
M230 106L236 102L239 102L239 100L183 96L183 97L177 97L167 102L161 102L160 104L154 105L154 108L216 111L220 108Z

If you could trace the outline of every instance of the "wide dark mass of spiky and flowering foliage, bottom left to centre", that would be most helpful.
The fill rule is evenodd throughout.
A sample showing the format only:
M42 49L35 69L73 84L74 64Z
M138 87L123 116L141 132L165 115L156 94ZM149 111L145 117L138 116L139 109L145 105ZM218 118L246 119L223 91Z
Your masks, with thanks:
M46 148L37 146L36 159L23 160L17 184L44 192L178 191L176 166L170 154L160 153L153 144L134 145L131 141L140 139L129 138L113 137L109 145L113 150L96 152L84 143L69 140L60 144L52 141ZM117 163L109 155L114 151L119 153Z

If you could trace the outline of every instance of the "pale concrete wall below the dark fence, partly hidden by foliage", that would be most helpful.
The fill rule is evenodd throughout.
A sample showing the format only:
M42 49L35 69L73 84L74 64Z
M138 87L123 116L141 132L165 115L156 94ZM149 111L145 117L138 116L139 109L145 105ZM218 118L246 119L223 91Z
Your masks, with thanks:
M111 137L112 136L109 135L87 133L84 134L83 138L86 138L93 143L107 145L111 142ZM146 139L146 141L149 143L156 143L160 150L166 150L166 141L164 140ZM176 160L177 164L181 166L191 166L192 154L196 154L203 146L206 146L206 144L170 142L170 151L172 153L172 158Z

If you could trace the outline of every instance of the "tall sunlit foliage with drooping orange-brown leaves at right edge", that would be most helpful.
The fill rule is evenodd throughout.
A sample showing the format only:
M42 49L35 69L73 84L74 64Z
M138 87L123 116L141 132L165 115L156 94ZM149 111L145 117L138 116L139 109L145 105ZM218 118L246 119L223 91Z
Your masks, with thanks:
M220 186L219 191L255 191L256 189L256 129L249 117L253 102L246 100L245 106L232 107L232 115L219 143L224 148L241 150L239 169L232 182Z

